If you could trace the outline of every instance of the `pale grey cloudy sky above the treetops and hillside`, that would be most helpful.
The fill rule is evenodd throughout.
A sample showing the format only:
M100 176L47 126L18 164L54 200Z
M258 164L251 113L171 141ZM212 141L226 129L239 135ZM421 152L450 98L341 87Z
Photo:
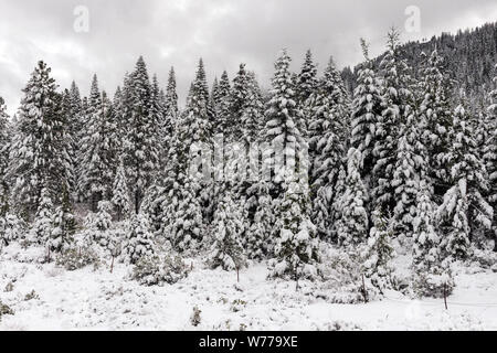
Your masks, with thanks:
M87 32L74 30L80 6ZM419 32L405 31L409 6L420 9ZM140 54L162 85L175 66L181 98L200 56L210 81L244 62L268 86L282 47L295 68L307 49L321 67L329 55L346 66L361 60L359 38L380 53L392 25L403 40L422 40L496 19L495 0L0 0L0 96L13 113L39 60L61 87L75 79L86 95L96 73L114 93Z

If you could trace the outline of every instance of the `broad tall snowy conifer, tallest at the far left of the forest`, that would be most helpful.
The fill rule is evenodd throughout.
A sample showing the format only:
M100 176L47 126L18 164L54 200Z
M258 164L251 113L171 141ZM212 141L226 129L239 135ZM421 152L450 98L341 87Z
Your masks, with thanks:
M10 149L12 195L27 217L40 208L42 189L59 203L60 190L67 185L62 101L50 73L39 62L23 89Z

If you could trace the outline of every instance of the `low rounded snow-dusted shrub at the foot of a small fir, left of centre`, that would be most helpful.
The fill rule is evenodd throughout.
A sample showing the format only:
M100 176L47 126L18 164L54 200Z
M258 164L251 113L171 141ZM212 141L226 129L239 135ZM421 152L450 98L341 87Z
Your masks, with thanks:
M173 285L188 274L189 267L180 256L145 256L133 268L131 279L144 286Z

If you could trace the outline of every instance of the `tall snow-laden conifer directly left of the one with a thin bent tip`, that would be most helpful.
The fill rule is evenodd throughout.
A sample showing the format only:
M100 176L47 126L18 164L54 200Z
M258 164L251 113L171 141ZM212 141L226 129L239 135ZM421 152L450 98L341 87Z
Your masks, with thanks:
M343 83L330 58L325 76L307 99L310 117L310 150L313 154L313 222L321 238L329 238L334 189L346 150L341 138L349 115Z

